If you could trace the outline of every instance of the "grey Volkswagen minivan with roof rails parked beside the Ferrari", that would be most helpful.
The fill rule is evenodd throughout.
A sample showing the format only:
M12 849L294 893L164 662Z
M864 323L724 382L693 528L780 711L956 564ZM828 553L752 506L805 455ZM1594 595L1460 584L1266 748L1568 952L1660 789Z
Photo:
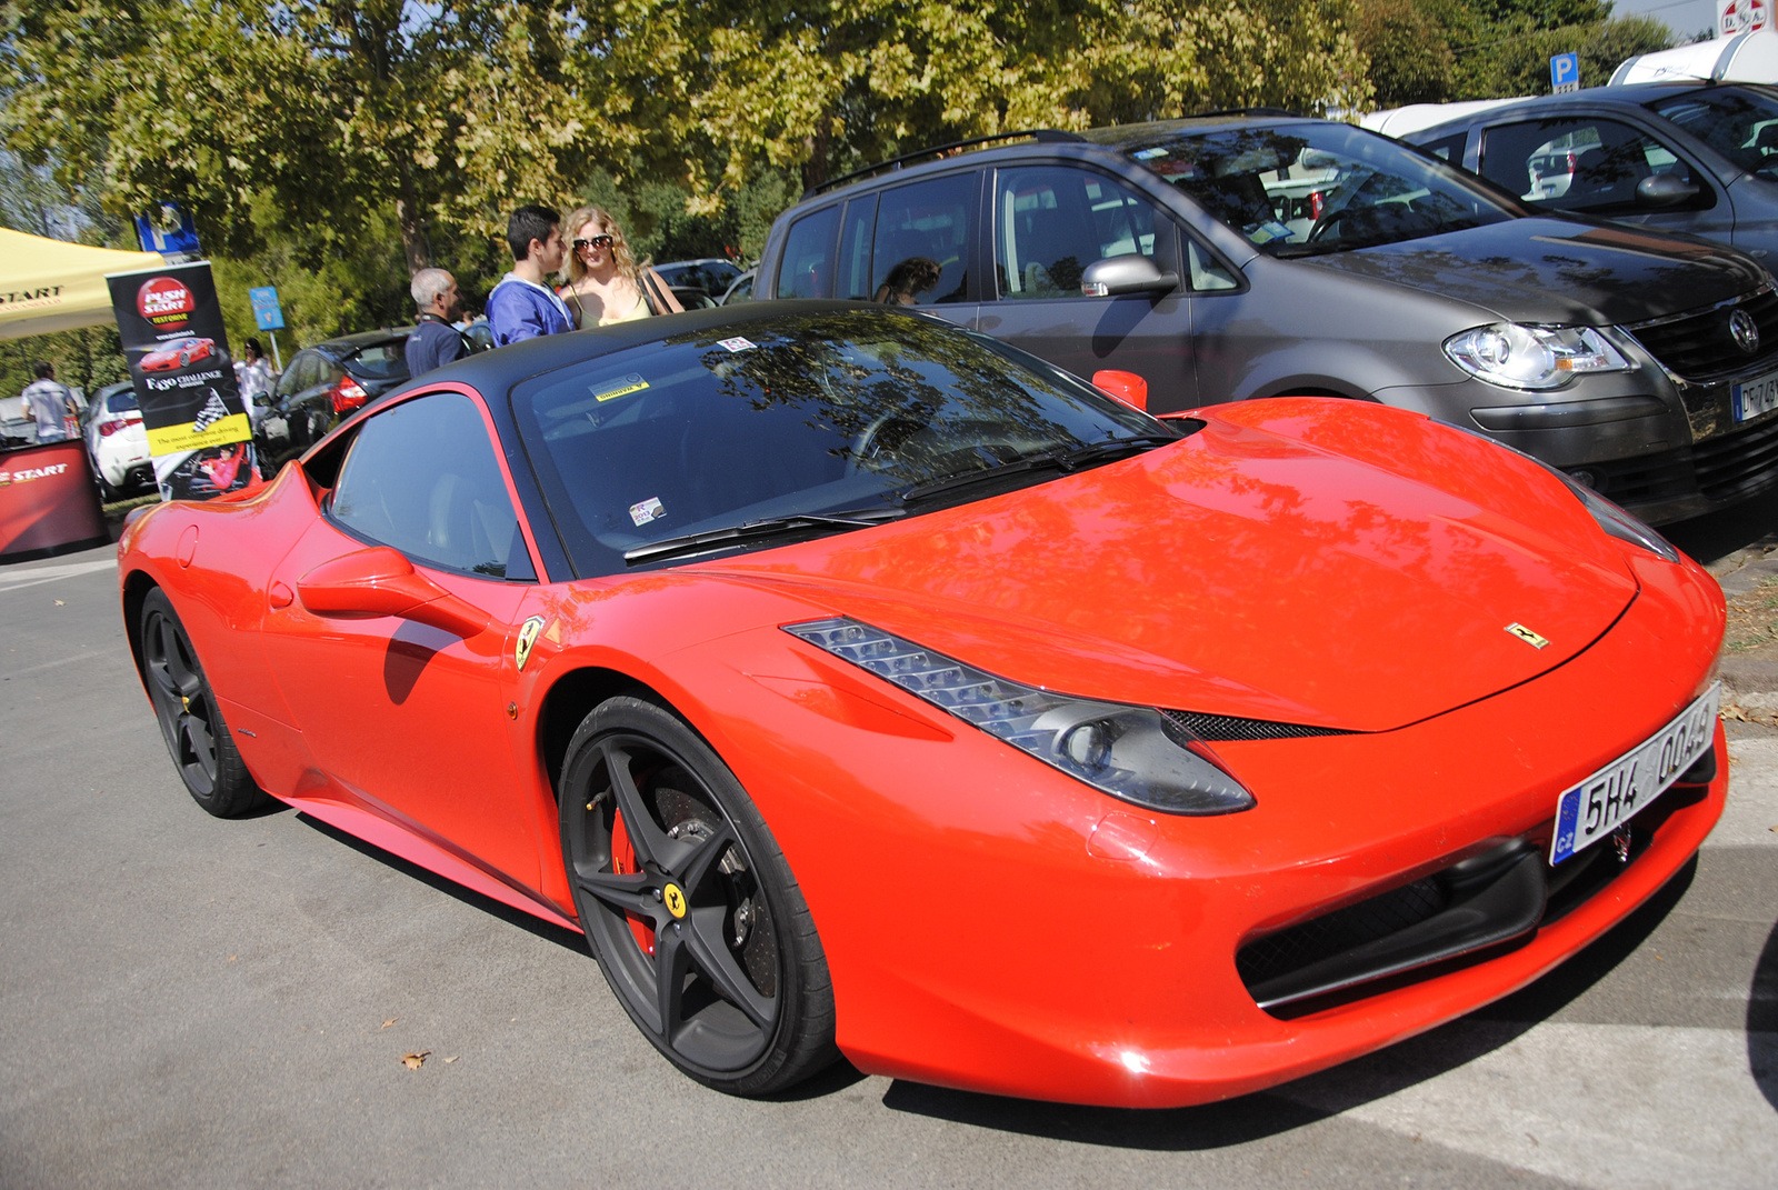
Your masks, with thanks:
M1511 443L1654 521L1778 480L1778 293L1282 112L944 146L813 190L757 293L930 306L1154 413L1319 393Z

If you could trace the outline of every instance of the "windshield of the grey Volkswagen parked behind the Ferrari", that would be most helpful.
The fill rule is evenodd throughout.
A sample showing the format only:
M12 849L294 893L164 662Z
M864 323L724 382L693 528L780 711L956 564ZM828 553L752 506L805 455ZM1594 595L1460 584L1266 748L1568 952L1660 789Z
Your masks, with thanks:
M1273 256L1342 253L1518 212L1456 169L1350 125L1111 130L1131 158Z

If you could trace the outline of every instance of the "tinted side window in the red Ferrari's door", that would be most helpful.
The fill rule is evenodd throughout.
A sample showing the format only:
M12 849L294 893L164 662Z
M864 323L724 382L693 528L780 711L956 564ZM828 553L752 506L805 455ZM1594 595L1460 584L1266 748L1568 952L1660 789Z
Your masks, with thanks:
M532 573L482 413L462 393L364 422L340 466L332 519L414 562L485 578Z

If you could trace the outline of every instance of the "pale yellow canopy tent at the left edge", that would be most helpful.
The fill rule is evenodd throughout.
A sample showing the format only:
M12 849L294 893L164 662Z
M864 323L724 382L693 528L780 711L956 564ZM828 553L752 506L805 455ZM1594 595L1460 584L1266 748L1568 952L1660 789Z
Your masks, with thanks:
M110 322L105 274L162 263L158 253L119 253L0 228L0 338Z

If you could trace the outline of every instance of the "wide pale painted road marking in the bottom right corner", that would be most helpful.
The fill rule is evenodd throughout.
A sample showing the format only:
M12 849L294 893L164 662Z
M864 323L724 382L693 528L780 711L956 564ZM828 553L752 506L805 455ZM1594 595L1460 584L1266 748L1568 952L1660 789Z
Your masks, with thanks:
M1755 1081L1748 1033L1517 1028L1458 1021L1271 1094L1582 1186L1771 1186L1778 1115ZM1778 1033L1757 1033L1751 1049L1771 1069Z

